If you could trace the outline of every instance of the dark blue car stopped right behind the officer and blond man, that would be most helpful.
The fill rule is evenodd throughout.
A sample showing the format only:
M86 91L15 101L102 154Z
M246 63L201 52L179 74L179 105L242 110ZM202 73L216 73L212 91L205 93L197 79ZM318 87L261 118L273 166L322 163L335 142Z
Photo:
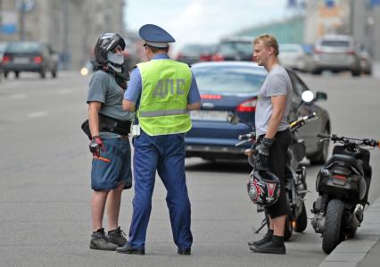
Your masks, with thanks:
M257 96L267 71L256 63L214 62L196 63L192 67L202 97L199 111L190 113L193 128L187 132L186 157L202 157L207 160L236 159L244 157L244 149L238 146L237 136L246 134L250 128L244 123L231 125L228 114L235 113L243 121L254 123ZM307 155L311 163L324 163L327 157L328 142L320 143L317 134L330 132L330 118L326 110L315 101L326 99L326 94L318 92L315 101L302 104L302 92L309 90L302 79L287 69L293 84L293 104L289 121L312 112L319 120L310 121L299 130L305 140Z

